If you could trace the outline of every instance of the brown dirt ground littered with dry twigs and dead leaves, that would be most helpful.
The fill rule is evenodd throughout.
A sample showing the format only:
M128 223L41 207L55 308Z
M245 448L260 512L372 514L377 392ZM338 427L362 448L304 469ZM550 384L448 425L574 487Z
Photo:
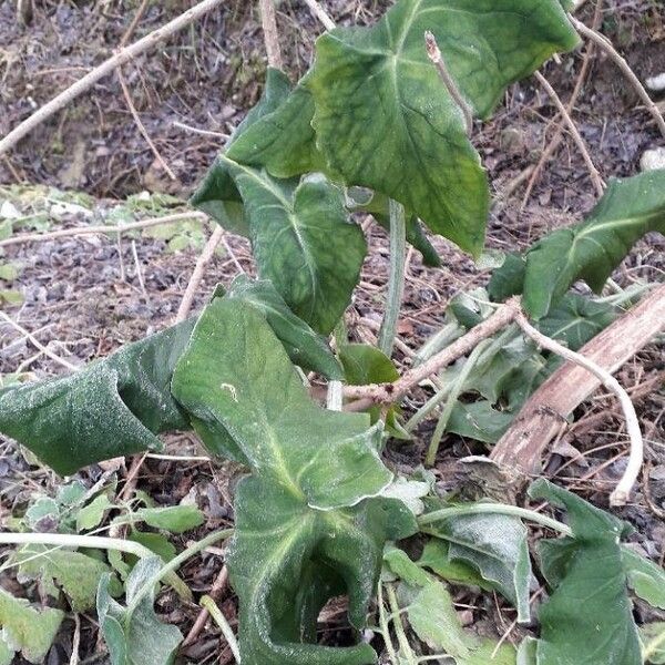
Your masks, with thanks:
M127 212L126 201L121 201L142 191L168 196L144 197L143 205L130 206L127 214L133 218L183 209L183 202L224 143L219 134L228 134L260 94L266 62L254 4L243 0L227 2L157 51L123 68L133 104L175 180L155 161L129 111L117 76L110 76L42 124L8 157L0 157L0 205L9 202L40 229L38 219L45 219L49 228L108 221L119 207ZM327 0L324 4L339 23L364 23L391 2ZM593 4L589 2L580 13L587 24ZM188 6L183 0L151 4L131 39L149 33ZM642 80L665 72L663 7L661 0L605 2L603 32ZM13 2L0 3L0 135L109 57L125 34L135 10L134 2L122 0L35 0L31 22L22 25L17 21ZM278 3L278 21L288 71L296 79L306 70L313 41L321 28L298 0ZM544 69L564 101L575 85L583 57L584 50L580 50ZM492 249L525 247L544 233L580 219L594 204L587 171L567 133L529 201L523 201L524 172L539 161L551 141L557 126L553 122L555 115L551 100L530 80L509 90L490 122L477 124L473 142L480 149L499 201L489 229L488 245ZM664 145L633 89L603 55L596 54L592 60L589 81L573 116L605 180L637 173L644 151ZM62 191L70 194L62 195ZM81 198L80 193L93 200ZM58 203L60 207L54 209ZM20 294L21 301L4 301L2 311L73 365L105 356L120 345L172 323L207 233L200 224L188 238L191 246L176 252L170 250L173 238L146 234L124 236L117 242L86 236L10 246L0 260L20 265L21 269L16 278L0 279L0 291L11 289ZM348 315L351 334L362 341L375 339L388 274L383 232L372 225L368 239L370 252L362 282ZM399 330L402 346L396 355L403 366L408 366L410 352L440 328L450 298L460 290L483 285L488 278L487 269L475 266L444 241L437 238L436 246L443 257L443 267L423 267L418 253L409 259ZM206 273L197 305L205 301L215 284L227 284L241 269L249 274L254 270L248 243L226 236ZM614 278L620 285L630 286L662 282L663 275L665 239L654 235L637 246ZM0 320L0 377L18 370L35 378L66 371L38 352L24 334ZM649 347L627 364L618 378L636 402L651 460L649 492L641 487L622 516L636 526L635 540L643 552L662 563L663 347ZM415 395L409 406L421 406L422 397ZM621 475L625 459L621 415L612 400L598 397L576 417L566 442L584 457L566 458L562 448L546 460L545 474L605 508L607 487ZM430 427L426 423L413 443L391 444L395 464L413 468L420 463ZM168 440L170 452L195 450L196 442L190 436ZM470 449L466 441L449 437L437 468L439 480L451 481L456 459L483 452L487 451ZM11 442L0 442L0 518L2 513L21 512L35 489L52 489L58 482L51 473L30 466ZM165 504L194 495L208 519L206 529L212 529L227 523L233 515L227 471L224 466L202 462L173 464L149 460L142 468L139 487ZM81 478L92 483L101 472L92 468ZM205 592L217 571L218 560L209 555L183 573L193 590ZM186 634L197 607L183 606L170 594L160 603L166 618ZM229 592L222 596L221 606L226 616L235 615ZM648 612L642 605L638 611ZM335 631L336 621L331 618L328 625L330 640L344 640ZM499 634L503 632L503 617L493 605L481 603L472 621L484 622ZM82 662L103 662L95 659L99 646L94 624L84 622L82 631ZM69 659L70 633L63 630L48 663ZM208 633L186 655L192 663L209 663L215 662L217 651L218 638ZM219 662L223 658L224 652Z

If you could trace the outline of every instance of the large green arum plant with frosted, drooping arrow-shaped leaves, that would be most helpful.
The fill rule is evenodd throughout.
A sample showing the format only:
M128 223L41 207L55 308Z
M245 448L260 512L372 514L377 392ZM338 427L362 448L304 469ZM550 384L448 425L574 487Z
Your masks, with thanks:
M488 117L508 85L579 44L570 9L560 0L399 0L372 27L321 35L311 69L295 85L270 69L258 105L193 197L226 229L250 239L259 278L218 288L198 316L78 374L0 393L2 432L59 473L160 451L161 432L187 429L211 454L246 466L227 549L244 664L376 663L375 648L362 641L318 644L317 618L331 597L344 594L351 626L364 628L382 569L391 614L381 603L378 630L395 663L431 661L433 654L458 664L518 657L539 665L642 663L628 589L665 608L665 576L621 544L625 524L544 481L531 488L532 498L565 510L567 524L510 505L451 504L426 481L396 482L381 451L383 416L390 432L403 433L397 410L376 408L372 400L366 412L325 409L296 369L329 381L380 383L374 395L403 395L388 357L401 300L403 241L429 265L441 258L426 229L480 255L490 195L468 119ZM440 49L439 66L432 44ZM327 338L342 320L367 253L354 216L359 212L391 234L383 352L349 345L344 335L332 352ZM569 293L573 283L584 279L601 289L642 235L664 229L665 173L615 181L586 222L510 257L495 272L490 295L500 304L523 294L541 330L559 326L554 336L579 348L613 320L614 310L581 305ZM451 316L462 335L487 327L489 313L458 304ZM483 346L461 376L443 375L457 379L456 397L475 391L487 403L451 402L441 431L473 422L466 434L495 440L552 371L555 359L539 356L516 328L508 342ZM469 342L454 344L463 349ZM519 357L514 371L500 369L510 358L502 354ZM492 405L502 399L505 410L497 423ZM474 409L473 417L460 418L459 408ZM427 513L417 518L422 508ZM540 638L525 641L518 655L508 643L463 630L443 581L498 592L528 624L535 577L523 519L563 538L539 544L549 600L539 616ZM385 559L388 543L419 532L428 540L418 561L401 550ZM12 534L3 540L19 541ZM98 611L114 665L172 659L181 636L160 624L152 601L156 583L174 570L142 560L126 581L126 606L102 581ZM4 626L1 612L0 604ZM410 644L401 615L418 636ZM4 640L6 648L19 651L16 641Z

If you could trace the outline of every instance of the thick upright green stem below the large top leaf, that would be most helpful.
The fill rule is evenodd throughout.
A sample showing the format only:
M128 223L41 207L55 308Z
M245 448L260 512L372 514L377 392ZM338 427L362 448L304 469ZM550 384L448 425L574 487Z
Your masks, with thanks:
M379 348L392 356L397 323L405 295L405 264L407 257L407 213L405 206L390 201L390 283L383 323L379 330Z

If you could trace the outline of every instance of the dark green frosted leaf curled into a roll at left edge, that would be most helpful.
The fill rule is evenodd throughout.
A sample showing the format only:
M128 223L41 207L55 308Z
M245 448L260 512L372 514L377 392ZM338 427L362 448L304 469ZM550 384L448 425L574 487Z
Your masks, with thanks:
M190 429L170 382L193 326L157 332L62 379L0 392L0 431L61 474L161 450L157 432Z

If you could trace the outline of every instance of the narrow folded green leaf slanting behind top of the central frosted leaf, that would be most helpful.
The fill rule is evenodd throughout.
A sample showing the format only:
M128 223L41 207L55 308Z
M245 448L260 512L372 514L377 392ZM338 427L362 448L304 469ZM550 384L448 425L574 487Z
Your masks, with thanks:
M259 309L293 362L330 380L344 378L344 370L326 339L288 308L270 282L253 282L243 275L232 284L226 298L250 303Z

